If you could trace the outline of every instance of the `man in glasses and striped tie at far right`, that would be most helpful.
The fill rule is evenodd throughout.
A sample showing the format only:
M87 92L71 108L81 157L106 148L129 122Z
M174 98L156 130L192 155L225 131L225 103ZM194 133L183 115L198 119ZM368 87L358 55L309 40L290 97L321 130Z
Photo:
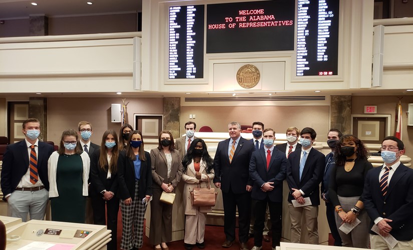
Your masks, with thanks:
M384 164L367 172L363 201L370 216L370 226L377 225L379 234L391 234L398 240L391 248L384 239L370 231L373 249L413 249L413 169L400 162L405 152L403 142L387 136L381 142Z

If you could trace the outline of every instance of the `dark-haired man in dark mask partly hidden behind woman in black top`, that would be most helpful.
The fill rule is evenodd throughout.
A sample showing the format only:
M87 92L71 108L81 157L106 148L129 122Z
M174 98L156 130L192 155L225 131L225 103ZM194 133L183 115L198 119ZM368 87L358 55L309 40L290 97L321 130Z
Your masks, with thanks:
M341 131L336 128L331 128L330 131L328 131L327 144L331 148L331 152L325 156L324 177L321 182L321 198L325 201L325 215L327 216L328 226L330 227L331 235L334 238L334 245L336 246L341 246L341 237L340 234L338 234L337 225L335 224L335 209L328 196L328 184L330 181L330 170L335 164L333 149L342 135Z

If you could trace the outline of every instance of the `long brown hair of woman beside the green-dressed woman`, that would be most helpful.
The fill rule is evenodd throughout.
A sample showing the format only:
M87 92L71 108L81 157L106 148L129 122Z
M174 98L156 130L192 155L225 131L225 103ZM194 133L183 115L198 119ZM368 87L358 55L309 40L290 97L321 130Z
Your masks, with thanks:
M105 145L106 137L109 134L112 134L113 138L115 139L115 146L112 147L112 156L111 156L111 163L108 163L108 148ZM106 166L109 167L111 173L116 173L118 171L118 157L119 157L119 147L118 147L118 135L116 134L115 130L108 129L103 133L102 136L102 143L101 143L101 152L99 155L99 167L103 170L107 170Z

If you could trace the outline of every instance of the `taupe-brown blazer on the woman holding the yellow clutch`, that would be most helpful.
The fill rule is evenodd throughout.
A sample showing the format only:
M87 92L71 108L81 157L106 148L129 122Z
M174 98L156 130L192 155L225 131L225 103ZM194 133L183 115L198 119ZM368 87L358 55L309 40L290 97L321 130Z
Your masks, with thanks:
M174 189L181 180L182 176L182 159L178 150L171 151L172 169L171 177L168 178L168 163L164 151L158 148L151 149L151 164L152 164L152 188L161 189L162 183L172 183Z

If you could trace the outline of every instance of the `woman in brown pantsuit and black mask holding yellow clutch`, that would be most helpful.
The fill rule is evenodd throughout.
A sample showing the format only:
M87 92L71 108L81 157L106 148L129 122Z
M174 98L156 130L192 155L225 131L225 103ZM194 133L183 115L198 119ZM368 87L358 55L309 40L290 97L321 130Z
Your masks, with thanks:
M182 159L174 149L174 138L162 131L157 148L151 149L152 201L149 242L155 249L168 250L166 242L172 240L172 205L160 201L162 191L173 192L182 176Z

